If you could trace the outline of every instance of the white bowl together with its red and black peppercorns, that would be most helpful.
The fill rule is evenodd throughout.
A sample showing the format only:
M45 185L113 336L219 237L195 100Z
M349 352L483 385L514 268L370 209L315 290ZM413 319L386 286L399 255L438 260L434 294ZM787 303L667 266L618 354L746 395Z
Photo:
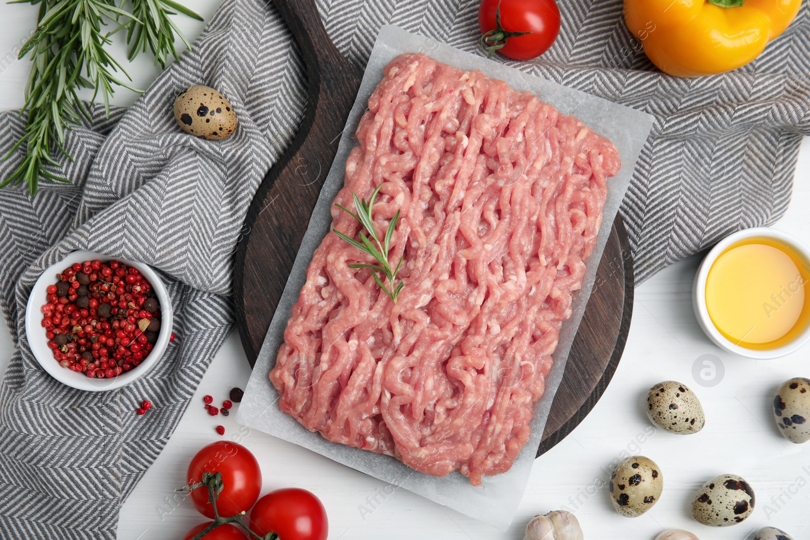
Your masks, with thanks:
M28 344L49 375L101 392L145 376L172 335L172 304L143 263L75 251L50 266L28 297Z

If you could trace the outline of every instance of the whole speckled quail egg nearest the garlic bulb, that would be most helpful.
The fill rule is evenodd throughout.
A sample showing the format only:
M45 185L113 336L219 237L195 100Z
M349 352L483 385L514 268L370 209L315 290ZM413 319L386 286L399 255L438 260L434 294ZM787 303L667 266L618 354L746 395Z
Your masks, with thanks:
M613 508L625 517L639 517L661 498L663 474L649 457L633 456L613 470L608 490Z

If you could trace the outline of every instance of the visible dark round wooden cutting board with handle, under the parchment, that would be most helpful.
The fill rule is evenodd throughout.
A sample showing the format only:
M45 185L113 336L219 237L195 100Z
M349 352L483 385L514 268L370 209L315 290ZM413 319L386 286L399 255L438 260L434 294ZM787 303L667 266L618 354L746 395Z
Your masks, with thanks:
M267 173L250 205L237 250L237 325L251 366L262 348L363 75L335 49L313 0L272 3L301 48L308 105L296 138ZM629 253L627 233L617 217L538 456L582 422L616 371L633 312Z

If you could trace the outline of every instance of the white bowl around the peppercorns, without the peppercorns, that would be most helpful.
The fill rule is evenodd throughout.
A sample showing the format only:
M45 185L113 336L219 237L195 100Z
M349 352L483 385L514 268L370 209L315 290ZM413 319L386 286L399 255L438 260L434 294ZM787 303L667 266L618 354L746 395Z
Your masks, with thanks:
M152 348L146 359L141 362L139 366L132 368L128 372L123 372L119 376L112 379L92 379L81 372L75 372L68 368L62 368L59 363L53 359L53 352L48 347L48 338L45 337L45 328L42 327L42 312L40 308L48 303L47 288L49 285L56 283L56 274L65 270L75 262L95 261L111 261L115 258L117 261L126 263L127 266L133 266L143 274L152 287L152 291L157 295L157 300L160 302L160 333L158 334L155 347ZM34 353L37 361L43 369L49 373L57 381L62 384L72 386L80 390L87 390L89 392L104 392L106 390L114 390L122 386L129 385L134 381L138 381L141 377L145 376L154 368L155 365L163 357L166 347L168 346L168 339L172 334L172 303L168 298L168 291L160 277L148 265L143 262L127 261L126 259L118 257L109 257L101 253L93 253L92 251L74 251L67 257L62 259L53 266L50 266L45 272L40 275L40 279L36 280L34 288L31 291L31 296L28 297L28 308L25 313L25 333L28 336L28 345Z

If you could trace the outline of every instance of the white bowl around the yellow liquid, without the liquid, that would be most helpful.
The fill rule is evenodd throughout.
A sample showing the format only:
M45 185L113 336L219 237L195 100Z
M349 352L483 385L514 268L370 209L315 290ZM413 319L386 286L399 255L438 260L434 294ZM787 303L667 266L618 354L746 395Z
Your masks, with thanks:
M787 232L778 231L770 227L755 227L735 232L730 236L726 236L715 245L709 254L706 255L706 258L703 259L703 262L701 262L700 268L697 269L695 282L692 287L692 307L694 308L697 321L701 325L701 329L703 329L706 335L709 336L718 347L746 358L761 360L780 358L791 354L791 352L798 351L800 347L808 342L808 339L810 339L810 325L807 325L799 335L782 347L758 351L756 349L740 347L723 336L723 334L720 334L717 327L715 327L714 323L711 321L709 310L706 308L706 279L709 276L711 266L714 264L714 261L717 260L720 253L723 253L723 250L727 249L728 246L748 238L770 238L787 244L793 249L796 255L804 259L805 264L810 266L810 249L802 244L798 238L787 234ZM810 298L806 297L805 302L808 301L810 301Z

